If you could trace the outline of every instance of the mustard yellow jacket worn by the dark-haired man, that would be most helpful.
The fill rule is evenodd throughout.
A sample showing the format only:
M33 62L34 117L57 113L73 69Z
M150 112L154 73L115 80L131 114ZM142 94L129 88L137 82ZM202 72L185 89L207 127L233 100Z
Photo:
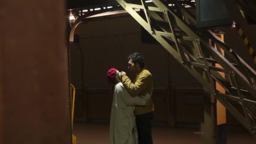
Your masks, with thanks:
M128 76L122 77L123 86L127 89L131 96L144 96L146 93L153 91L153 78L147 69L136 76L135 80L131 82ZM152 97L147 101L146 106L135 106L134 115L142 115L155 110Z

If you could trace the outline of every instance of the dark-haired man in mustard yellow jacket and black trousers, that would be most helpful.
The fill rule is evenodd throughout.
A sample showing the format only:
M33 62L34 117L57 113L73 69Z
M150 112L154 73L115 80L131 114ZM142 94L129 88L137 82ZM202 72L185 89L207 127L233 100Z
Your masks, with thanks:
M144 68L144 57L140 53L132 53L128 56L128 69L136 74L133 82L121 72L123 86L131 96L141 96L153 91L153 78L151 73ZM136 126L139 136L139 144L153 144L152 141L152 120L154 103L150 98L146 106L135 106Z

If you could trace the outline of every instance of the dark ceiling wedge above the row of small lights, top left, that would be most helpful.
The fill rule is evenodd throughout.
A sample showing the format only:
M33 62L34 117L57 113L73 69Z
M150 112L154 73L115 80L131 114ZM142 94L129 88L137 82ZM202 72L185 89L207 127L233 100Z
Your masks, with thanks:
M67 9L83 8L92 5L117 3L115 0L67 0Z

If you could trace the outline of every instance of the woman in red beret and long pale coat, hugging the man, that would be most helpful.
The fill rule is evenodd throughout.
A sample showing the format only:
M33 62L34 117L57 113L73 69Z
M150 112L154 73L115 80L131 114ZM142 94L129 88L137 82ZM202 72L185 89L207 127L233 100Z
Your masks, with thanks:
M108 70L107 81L113 84L109 127L110 144L138 144L133 105L146 105L150 95L146 93L145 96L131 97L120 83L120 72L115 68Z

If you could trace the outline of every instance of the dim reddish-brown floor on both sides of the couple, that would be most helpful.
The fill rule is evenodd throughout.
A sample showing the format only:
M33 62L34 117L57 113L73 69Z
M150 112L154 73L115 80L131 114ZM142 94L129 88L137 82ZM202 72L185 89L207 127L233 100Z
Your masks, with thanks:
M231 130L232 129L232 130ZM154 126L154 144L204 144L203 135L195 128L168 128ZM256 144L256 138L243 128L228 128L227 144ZM107 123L74 123L78 144L109 144Z

